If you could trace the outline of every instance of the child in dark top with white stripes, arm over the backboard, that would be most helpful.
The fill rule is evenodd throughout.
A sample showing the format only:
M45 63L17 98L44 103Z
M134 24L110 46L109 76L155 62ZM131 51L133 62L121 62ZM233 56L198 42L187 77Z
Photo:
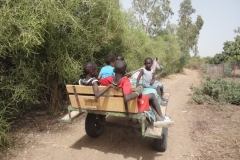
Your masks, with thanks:
M108 90L108 88L116 88L113 84L109 84L107 87L99 91L99 82L96 78L98 76L98 68L96 64L92 62L87 62L84 65L83 70L86 78L79 79L78 83L79 85L92 86L95 98L99 98L100 96L102 96Z

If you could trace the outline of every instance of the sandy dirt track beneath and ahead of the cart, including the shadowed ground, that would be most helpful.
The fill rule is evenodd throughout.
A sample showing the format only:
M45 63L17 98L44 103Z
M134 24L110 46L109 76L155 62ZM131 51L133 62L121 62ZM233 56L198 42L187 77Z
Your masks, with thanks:
M191 93L189 86L199 84L198 72L186 69L183 74L172 75L161 81L167 87L166 92L170 93L167 115L175 121L175 125L169 128L166 152L155 151L153 139L142 138L138 124L129 128L126 123L122 123L123 125L112 123L112 121L124 121L121 118L107 119L108 123L104 133L100 137L92 139L85 133L85 114L76 118L73 124L57 123L56 118L48 117L42 117L47 119L46 121L39 121L39 117L41 117L39 115L39 117L25 118L26 121L28 120L28 125L26 125L26 121L22 122L25 125L22 124L23 126L13 136L18 141L15 144L17 148L3 153L3 159L208 159L203 158L203 150L198 148L202 142L200 138L202 133L193 135L193 131L196 131L196 126L194 126L197 121L194 116L196 113L187 105ZM20 126L21 124L19 124ZM235 135L235 138L237 136L238 134ZM240 142L240 138L238 142ZM237 149L234 155L238 158Z

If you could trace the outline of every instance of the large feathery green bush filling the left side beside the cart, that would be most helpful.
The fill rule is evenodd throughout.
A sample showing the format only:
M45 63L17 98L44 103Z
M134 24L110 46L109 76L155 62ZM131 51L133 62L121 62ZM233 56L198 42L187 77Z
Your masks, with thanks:
M38 105L57 111L87 61L121 52L118 0L0 1L0 144L11 117Z

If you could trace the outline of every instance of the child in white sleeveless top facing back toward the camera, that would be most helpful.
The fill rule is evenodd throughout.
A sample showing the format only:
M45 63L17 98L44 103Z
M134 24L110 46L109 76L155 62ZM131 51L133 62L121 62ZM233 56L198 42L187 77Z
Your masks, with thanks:
M155 81L155 73L154 73L153 69L151 69L151 67L153 65L152 58L147 57L144 60L144 65L145 65L145 68L142 68L140 70L139 75L138 75L137 82L136 82L136 87L139 86L139 80L142 77L142 85L143 85L143 87L144 88L156 89L159 97L162 99L161 105L162 106L166 106L166 102L165 101L167 99L163 98L163 84L161 82Z

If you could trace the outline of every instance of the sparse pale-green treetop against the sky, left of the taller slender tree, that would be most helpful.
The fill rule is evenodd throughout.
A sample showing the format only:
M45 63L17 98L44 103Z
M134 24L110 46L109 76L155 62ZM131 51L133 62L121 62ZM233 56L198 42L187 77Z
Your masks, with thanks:
M132 5L142 29L152 37L163 30L173 15L169 0L133 0Z

